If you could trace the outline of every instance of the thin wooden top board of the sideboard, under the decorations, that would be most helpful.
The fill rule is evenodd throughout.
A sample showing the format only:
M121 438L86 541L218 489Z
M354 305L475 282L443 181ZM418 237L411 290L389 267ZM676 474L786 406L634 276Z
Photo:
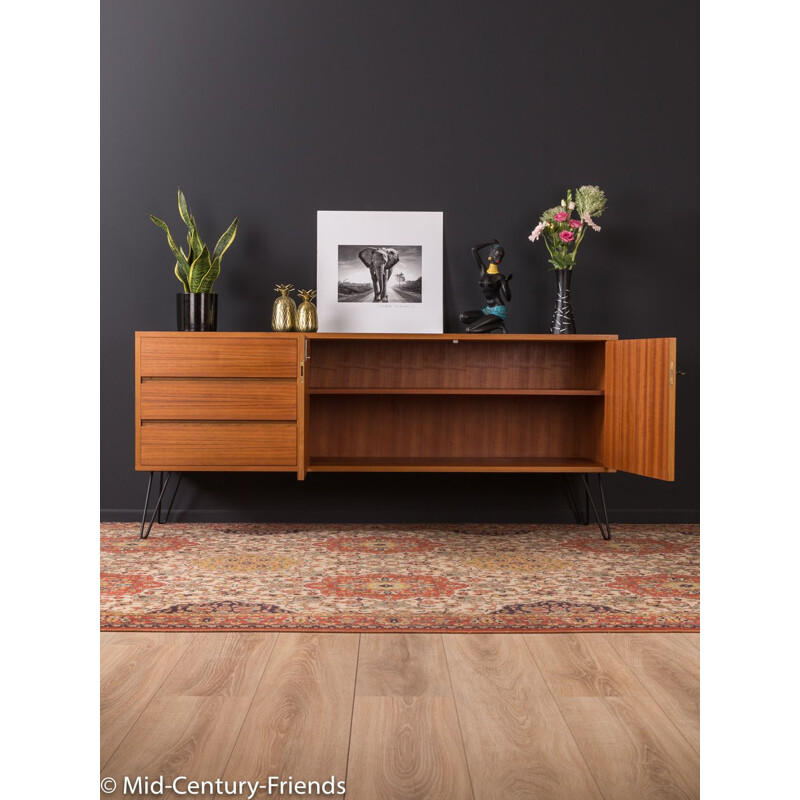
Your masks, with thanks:
M398 339L404 341L516 341L516 342L603 342L618 339L611 333L274 333L272 331L136 331L137 336L218 336L231 338L277 338L305 336L309 339Z

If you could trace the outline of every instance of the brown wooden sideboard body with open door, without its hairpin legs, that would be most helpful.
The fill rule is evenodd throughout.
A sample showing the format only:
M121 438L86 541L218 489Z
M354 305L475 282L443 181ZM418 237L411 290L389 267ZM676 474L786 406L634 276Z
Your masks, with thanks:
M675 339L136 333L136 469L674 480Z

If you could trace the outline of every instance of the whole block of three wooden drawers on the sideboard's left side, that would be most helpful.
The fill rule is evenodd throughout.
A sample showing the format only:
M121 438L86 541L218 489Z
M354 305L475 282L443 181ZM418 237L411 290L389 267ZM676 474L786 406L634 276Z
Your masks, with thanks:
M302 345L298 334L138 332L136 468L297 469Z

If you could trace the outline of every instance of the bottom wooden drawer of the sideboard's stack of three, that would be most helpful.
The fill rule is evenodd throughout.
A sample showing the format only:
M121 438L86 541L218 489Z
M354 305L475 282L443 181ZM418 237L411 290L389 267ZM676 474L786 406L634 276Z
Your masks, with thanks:
M142 466L294 466L297 426L280 422L143 422Z

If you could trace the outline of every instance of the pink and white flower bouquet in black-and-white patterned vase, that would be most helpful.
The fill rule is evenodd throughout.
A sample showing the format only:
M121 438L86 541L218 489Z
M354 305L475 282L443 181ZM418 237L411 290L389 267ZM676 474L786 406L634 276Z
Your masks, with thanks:
M561 205L548 208L528 237L532 242L540 237L544 240L550 253L547 261L556 270L558 294L551 333L575 333L570 302L570 279L575 267L575 254L588 228L600 230L594 219L603 213L605 207L606 196L599 186L580 186L574 196L572 190L568 190Z

